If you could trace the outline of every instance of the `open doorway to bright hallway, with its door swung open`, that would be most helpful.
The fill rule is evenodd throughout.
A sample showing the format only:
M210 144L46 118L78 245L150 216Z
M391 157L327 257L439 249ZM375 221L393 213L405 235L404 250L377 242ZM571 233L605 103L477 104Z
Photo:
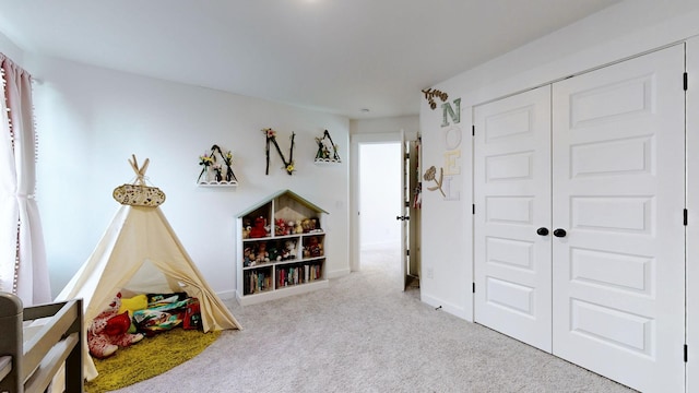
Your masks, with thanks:
M395 287L419 288L419 138L353 141L352 270L380 269ZM393 278L394 277L394 278Z

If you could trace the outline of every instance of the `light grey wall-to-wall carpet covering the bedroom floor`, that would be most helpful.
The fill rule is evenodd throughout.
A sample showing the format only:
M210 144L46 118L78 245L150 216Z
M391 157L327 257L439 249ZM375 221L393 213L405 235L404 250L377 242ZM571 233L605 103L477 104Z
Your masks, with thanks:
M632 392L400 291L393 255L364 254L328 289L227 301L245 330L118 392Z

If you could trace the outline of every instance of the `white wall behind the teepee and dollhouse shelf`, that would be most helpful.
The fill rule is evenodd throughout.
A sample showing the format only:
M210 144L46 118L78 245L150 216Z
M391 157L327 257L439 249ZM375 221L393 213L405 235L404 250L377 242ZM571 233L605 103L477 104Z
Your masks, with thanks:
M163 212L222 296L233 296L236 285L237 213L281 189L330 213L327 272L350 272L348 119L28 53L23 66L40 80L34 87L37 192L54 294L110 223L118 209L111 191L134 179L127 162L132 153L151 159L146 176L167 195ZM274 151L264 175L261 130L268 127L287 157L296 132L293 176ZM340 146L340 165L313 164L315 138L325 129ZM237 189L196 187L198 157L214 143L232 150Z

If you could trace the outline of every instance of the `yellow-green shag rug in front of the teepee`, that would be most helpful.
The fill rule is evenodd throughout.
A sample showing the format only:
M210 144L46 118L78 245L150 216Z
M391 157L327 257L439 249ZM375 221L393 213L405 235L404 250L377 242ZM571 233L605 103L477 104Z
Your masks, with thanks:
M95 359L99 374L85 382L85 392L102 393L158 376L199 355L216 341L221 331L202 333L174 329L128 347L106 359Z

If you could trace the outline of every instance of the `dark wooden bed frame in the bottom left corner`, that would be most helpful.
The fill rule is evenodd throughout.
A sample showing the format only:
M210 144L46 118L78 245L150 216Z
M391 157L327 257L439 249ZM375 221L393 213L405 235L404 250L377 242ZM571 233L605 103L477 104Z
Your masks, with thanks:
M0 393L46 392L61 370L66 392L82 392L82 299L23 308L0 293Z

